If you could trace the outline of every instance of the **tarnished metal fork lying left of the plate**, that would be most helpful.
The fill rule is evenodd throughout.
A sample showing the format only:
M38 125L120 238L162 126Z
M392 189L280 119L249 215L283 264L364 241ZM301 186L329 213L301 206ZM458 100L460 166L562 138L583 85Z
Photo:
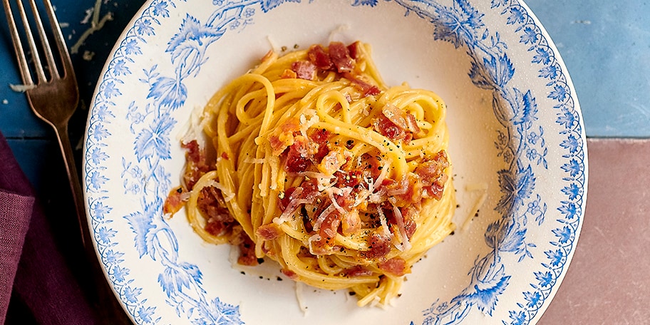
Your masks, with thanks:
M11 39L14 42L14 50L16 51L16 58L18 59L29 105L38 118L41 118L41 120L44 120L54 128L58 144L61 147L63 160L68 171L70 187L75 200L77 219L81 230L81 240L84 246L86 246L86 236L89 231L86 221L86 209L83 204L81 183L75 167L70 138L68 138L68 120L70 120L75 112L79 101L79 90L70 55L68 54L68 48L65 41L63 41L63 34L58 26L52 4L49 0L43 0L50 25L49 29L53 38L53 46L56 47L59 63L62 68L62 71L58 71L56 58L53 54L50 41L48 41L46 29L38 13L36 2L29 0L29 6L33 15L33 25L36 25L40 47L38 47L37 41L31 31L25 6L22 0L17 0L16 9L24 26L24 41L29 46L29 53L25 53L11 4L9 0L2 1L6 11L7 21L9 21ZM44 59L41 58L41 53L45 56ZM31 61L28 61L26 54L31 56ZM36 78L36 81L34 81L34 78Z

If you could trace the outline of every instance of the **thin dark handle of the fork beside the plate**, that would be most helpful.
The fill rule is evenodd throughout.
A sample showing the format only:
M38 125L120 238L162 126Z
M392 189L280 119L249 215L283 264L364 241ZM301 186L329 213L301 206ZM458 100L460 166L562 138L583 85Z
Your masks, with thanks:
M90 244L88 242L88 239L90 239L90 229L88 229L88 220L86 219L86 206L83 202L81 181L79 180L72 145L70 143L70 138L68 137L68 123L63 123L63 125L54 125L54 129L56 130L58 145L61 147L61 152L63 153L63 162L65 163L66 171L68 172L70 189L72 191L72 197L77 212L77 221L79 224L79 230L81 231L81 242L83 243L83 247L88 249L88 245Z

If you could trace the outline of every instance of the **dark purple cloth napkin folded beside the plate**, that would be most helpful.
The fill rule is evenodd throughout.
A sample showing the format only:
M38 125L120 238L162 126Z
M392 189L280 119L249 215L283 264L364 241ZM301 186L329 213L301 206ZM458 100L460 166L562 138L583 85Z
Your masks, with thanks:
M0 133L0 324L12 292L38 324L96 324L34 197Z

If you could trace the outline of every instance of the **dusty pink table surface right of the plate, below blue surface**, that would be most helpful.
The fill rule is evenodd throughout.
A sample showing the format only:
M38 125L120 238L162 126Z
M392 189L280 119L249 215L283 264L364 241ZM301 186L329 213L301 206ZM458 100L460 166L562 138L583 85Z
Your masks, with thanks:
M650 139L589 139L582 234L538 324L650 324Z

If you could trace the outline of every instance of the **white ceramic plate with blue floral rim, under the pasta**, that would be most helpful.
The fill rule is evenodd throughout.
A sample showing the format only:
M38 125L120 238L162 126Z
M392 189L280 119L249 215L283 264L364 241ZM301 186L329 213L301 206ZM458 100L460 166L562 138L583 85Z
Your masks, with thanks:
M242 274L229 247L161 214L180 182L190 112L272 46L331 37L371 43L388 84L448 104L459 229L386 310L306 288L305 314L272 263ZM148 1L105 65L84 157L98 257L138 324L535 323L567 272L587 197L574 88L517 0Z

